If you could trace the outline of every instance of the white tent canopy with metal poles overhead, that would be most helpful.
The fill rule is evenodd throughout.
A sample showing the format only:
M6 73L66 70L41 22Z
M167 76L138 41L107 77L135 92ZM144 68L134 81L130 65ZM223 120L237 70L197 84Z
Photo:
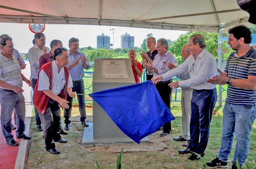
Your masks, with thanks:
M0 22L219 32L249 24L236 0L2 0Z

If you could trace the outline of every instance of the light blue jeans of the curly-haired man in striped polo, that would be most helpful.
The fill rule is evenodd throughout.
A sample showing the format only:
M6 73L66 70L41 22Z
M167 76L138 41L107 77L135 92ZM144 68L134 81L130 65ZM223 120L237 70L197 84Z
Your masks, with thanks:
M236 149L233 164L238 159L243 166L249 152L250 131L256 117L256 108L225 103L222 120L222 137L218 158L227 162L232 150L234 133L236 135Z

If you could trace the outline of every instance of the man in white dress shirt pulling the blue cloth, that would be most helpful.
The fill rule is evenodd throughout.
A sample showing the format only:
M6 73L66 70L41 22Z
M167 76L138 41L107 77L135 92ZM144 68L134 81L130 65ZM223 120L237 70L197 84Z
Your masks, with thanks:
M190 144L186 150L179 150L180 154L195 152L204 156L206 149L212 111L217 100L217 91L214 84L207 83L208 79L216 75L216 59L205 50L205 40L200 34L194 34L189 40L191 56L177 68L152 78L156 83L162 79L174 77L180 73L189 71L190 79L176 81L169 84L173 89L177 87L191 87L193 96L191 99L190 119ZM200 141L199 141L200 140ZM199 156L192 153L190 160L198 160Z

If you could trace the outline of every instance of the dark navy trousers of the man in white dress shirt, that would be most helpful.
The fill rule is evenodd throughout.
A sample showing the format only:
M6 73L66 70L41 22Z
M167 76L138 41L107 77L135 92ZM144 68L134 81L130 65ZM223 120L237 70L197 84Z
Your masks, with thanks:
M191 151L204 153L210 132L212 111L217 101L216 88L193 91L191 99L190 143Z

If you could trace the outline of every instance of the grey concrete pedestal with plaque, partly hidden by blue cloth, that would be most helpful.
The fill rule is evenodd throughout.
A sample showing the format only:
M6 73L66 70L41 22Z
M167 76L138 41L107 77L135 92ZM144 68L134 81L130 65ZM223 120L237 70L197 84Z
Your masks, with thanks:
M127 78L102 78L100 74L101 61L125 61ZM125 70L125 69L124 69ZM108 59L101 58L95 59L94 72L93 72L93 92L127 86L135 84L133 71L129 59ZM122 106L122 105L120 105ZM144 142L149 142L147 137L143 138ZM98 103L93 101L93 124L89 124L89 128L86 127L82 139L82 144L111 144L111 143L131 143L134 142L128 136L126 136L116 124L109 118L108 114L100 107Z

